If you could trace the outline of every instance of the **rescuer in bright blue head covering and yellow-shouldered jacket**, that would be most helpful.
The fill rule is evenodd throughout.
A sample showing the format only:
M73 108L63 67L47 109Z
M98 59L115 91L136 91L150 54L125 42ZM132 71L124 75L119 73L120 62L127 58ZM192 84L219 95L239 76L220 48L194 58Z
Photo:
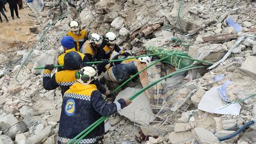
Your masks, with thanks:
M71 36L64 36L61 40L61 46L64 49L64 54L61 54L58 57L58 65L63 66L64 65L64 56L69 53L70 51L75 51L75 40L74 38L72 38ZM85 57L84 54L75 51L76 53L78 53L80 55L80 57L82 58L83 62L88 62L89 60L87 59L87 57ZM83 66L86 66L86 64L84 64ZM63 70L61 67L58 68L58 71Z

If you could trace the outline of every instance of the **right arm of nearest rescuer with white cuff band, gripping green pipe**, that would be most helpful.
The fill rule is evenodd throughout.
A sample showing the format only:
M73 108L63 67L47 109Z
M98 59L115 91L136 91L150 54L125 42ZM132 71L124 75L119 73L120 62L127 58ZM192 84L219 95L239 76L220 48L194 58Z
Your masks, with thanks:
M95 111L101 114L101 116L110 116L111 114L114 114L120 109L126 107L126 101L122 98L114 101L114 103L106 103L98 90L93 91L91 96L91 104Z

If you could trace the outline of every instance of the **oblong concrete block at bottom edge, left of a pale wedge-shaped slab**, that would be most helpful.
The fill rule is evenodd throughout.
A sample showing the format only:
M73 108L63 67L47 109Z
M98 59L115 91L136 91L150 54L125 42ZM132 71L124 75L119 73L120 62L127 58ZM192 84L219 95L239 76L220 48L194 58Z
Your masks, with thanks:
M191 131L187 132L171 132L169 134L169 142L171 143L182 143L184 140L187 140L187 143L193 141L194 135Z

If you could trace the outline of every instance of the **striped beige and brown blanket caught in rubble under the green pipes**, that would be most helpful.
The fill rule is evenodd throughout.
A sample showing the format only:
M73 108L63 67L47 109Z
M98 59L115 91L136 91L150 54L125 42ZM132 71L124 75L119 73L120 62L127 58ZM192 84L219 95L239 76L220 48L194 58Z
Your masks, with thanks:
M155 61L157 61L157 59ZM152 62L154 62L154 60ZM150 63L147 64L147 66L149 65ZM138 67L139 71L142 69L143 67ZM147 73L140 75L140 82L142 83L143 87L147 87L148 83L154 82L161 77L164 77L165 75L171 74L171 72L174 71L175 70L173 67L171 67L169 64L158 62L158 64L155 64L155 66L150 67L147 70ZM151 106L156 107L156 109L153 109L154 114L158 114L164 104L168 103L168 100L170 100L173 96L173 87L181 84L183 79L183 76L176 78L176 80L173 80L173 77L167 78L166 80L153 85L153 87L145 91L148 98L150 99ZM168 108L169 106L166 107ZM159 114L164 112L164 109L162 109Z

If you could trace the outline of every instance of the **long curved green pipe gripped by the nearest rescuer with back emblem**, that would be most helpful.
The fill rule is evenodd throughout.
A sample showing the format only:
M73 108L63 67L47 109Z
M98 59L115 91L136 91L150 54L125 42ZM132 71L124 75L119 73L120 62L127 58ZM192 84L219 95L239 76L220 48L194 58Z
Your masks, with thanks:
M168 77L172 77L173 75L179 74L181 72L186 72L187 70L200 69L200 68L203 68L203 67L207 67L207 66L188 66L188 67L184 67L183 69L177 70L176 72L173 72L173 73L171 73L169 75L166 75L165 77L160 78L159 80L156 80L155 82L150 83L147 87L140 89L139 91L137 91L137 93L135 93L134 95L130 96L129 100L130 101L134 100L137 96L139 96L145 90L148 90L148 88L152 87L153 85L155 85L156 83L160 82L161 80L164 80L164 79L166 79ZM104 122L106 119L108 119L108 117L109 116L101 117L97 121L93 122L93 124L91 124L89 127L87 127L87 129L83 130L83 132L79 133L79 135L77 135L75 138L70 140L68 144L71 144L74 141L75 141L74 144L79 143L80 140L82 140L84 137L86 137L88 135L88 133L92 132L93 129L95 129L96 127L98 127L98 125L100 125L102 122ZM80 137L81 135L82 135L82 137ZM76 140L78 137L80 137L80 138L78 140Z

